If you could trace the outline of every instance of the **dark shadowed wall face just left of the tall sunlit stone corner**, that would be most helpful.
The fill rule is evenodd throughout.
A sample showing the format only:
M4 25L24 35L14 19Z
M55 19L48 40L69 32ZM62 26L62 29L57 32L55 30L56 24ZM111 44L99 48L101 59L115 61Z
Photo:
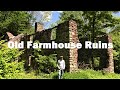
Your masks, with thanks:
M69 43L69 22L66 21L62 24L59 24L56 29L56 43ZM66 63L66 70L69 71L70 63L69 63L69 49L56 49L57 58L59 59L60 56L63 56L63 59Z

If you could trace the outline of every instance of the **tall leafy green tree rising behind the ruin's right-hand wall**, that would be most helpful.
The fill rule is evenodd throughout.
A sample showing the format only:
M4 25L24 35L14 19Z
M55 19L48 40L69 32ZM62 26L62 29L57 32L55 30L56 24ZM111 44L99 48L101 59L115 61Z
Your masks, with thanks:
M83 17L88 20L88 28L91 32L90 40L94 43L95 38L99 35L99 32L105 32L106 28L114 27L119 24L119 19L116 19L112 15L112 11L84 11ZM93 49L91 51L91 61L94 67Z

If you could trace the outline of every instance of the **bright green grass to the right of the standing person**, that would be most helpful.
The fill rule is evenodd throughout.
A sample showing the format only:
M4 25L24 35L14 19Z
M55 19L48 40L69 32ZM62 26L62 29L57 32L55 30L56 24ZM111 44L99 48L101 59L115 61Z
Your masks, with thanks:
M65 73L64 79L120 79L119 74L106 73L102 71L94 71L92 69L80 70L74 73Z

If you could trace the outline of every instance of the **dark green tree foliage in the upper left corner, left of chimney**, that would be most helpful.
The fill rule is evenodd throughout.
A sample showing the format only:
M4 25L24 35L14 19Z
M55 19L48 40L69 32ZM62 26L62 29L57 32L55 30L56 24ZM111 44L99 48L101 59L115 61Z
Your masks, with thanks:
M27 11L0 11L0 34L7 31L17 35L29 31L32 15Z

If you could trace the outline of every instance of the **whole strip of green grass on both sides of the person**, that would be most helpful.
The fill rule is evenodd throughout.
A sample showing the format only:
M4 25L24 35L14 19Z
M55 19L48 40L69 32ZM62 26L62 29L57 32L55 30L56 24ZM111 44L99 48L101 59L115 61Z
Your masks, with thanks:
M51 74L35 75L34 72L30 73L16 73L12 75L7 75L5 78L1 79L58 79L58 72L53 72ZM120 74L115 73L105 73L102 71L94 71L92 69L79 70L78 72L65 72L63 79L120 79Z

